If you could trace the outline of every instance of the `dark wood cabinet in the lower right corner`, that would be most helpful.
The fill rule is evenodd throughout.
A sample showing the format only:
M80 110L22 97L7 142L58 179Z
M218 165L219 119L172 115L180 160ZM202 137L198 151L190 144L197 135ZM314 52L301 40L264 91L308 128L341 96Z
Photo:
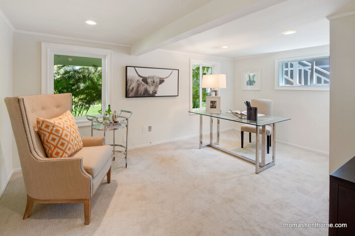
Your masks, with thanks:
M329 227L329 235L355 235L355 156L330 174L329 223L346 223L346 227Z

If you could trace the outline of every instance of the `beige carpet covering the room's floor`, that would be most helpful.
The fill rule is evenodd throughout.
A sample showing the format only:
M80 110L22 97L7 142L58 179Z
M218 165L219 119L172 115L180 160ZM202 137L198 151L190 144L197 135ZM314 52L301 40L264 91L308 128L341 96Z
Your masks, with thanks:
M223 132L221 143L239 150L238 134ZM22 220L26 191L15 173L0 199L0 234L326 235L283 222L328 222L328 157L276 145L276 165L258 175L246 162L198 149L198 137L131 150L128 169L95 194L90 225L80 203L35 203Z

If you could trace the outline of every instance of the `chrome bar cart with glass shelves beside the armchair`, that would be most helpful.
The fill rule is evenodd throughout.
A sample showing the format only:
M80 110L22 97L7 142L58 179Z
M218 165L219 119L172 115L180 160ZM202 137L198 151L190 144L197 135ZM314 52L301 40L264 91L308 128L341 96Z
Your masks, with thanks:
M93 136L93 130L104 131L104 138L106 143L106 132L113 131L113 143L108 144L113 146L112 150L112 170L120 169L121 167L115 167L115 164L125 159L127 168L127 147L128 147L128 119L132 116L131 111L118 110L119 114L114 122L104 122L102 115L86 115L86 118L91 121L91 136ZM123 116L127 114L127 116ZM129 115L128 115L129 114ZM126 128L126 145L115 143L115 130L120 130ZM116 149L117 147L117 149ZM122 156L121 159L116 159L118 156Z

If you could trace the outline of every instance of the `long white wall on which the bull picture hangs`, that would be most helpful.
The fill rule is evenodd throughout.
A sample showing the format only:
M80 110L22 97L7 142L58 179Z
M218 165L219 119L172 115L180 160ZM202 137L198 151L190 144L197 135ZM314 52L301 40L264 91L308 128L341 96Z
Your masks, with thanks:
M14 96L41 93L41 42L80 45L113 50L113 83L111 109L133 111L129 120L130 147L197 135L199 119L189 115L190 58L221 62L221 73L227 74L227 89L221 91L222 109L233 107L233 60L156 50L141 56L130 56L129 47L80 42L30 34L14 34ZM179 96L154 98L125 98L125 66L179 69ZM204 129L209 126L205 120ZM152 132L143 133L144 125L153 126ZM221 129L230 128L221 122ZM90 135L90 128L80 128L82 136ZM119 133L117 133L119 134ZM95 133L100 135L100 133ZM102 133L101 133L102 135ZM111 140L108 134L108 142ZM119 136L119 135L117 135ZM117 138L122 141L122 138ZM196 146L198 142L196 142ZM15 166L14 169L20 168Z

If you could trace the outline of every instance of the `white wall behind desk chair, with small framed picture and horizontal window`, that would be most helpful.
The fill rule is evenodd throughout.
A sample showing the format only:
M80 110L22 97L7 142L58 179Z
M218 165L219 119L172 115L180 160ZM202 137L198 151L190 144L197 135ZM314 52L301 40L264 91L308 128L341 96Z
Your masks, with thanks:
M234 61L234 108L246 110L244 101L254 98L271 99L273 115L291 118L290 121L276 125L277 140L329 153L329 91L274 89L275 59L319 53L329 53L329 46L236 59ZM250 69L261 69L261 91L242 90L242 70Z

